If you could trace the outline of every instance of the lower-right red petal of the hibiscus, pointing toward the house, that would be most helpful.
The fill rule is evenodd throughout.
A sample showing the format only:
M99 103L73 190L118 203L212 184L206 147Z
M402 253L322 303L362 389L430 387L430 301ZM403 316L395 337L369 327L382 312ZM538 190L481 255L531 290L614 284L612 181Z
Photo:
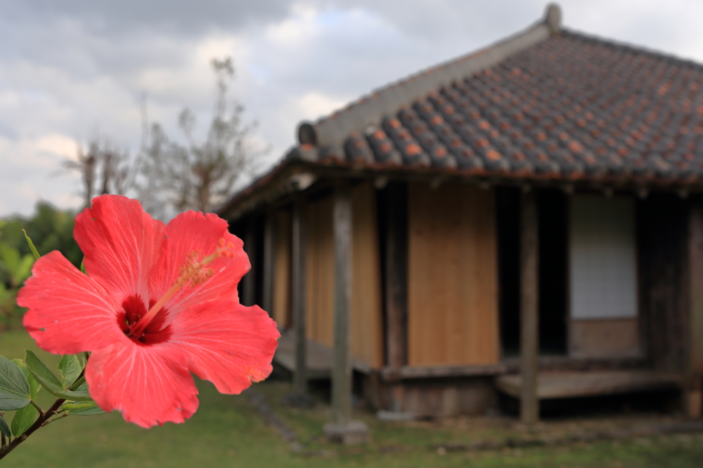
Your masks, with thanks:
M169 346L183 351L188 369L223 394L238 394L271 374L280 337L258 306L214 301L182 311L171 324Z

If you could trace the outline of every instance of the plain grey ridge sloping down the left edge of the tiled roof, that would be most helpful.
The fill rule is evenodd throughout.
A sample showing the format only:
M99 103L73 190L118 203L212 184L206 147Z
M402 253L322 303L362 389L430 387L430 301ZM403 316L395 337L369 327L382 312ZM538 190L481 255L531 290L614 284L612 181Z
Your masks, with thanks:
M369 124L380 122L384 115L394 114L413 100L427 96L446 84L465 79L486 70L506 58L548 39L561 30L561 11L549 4L541 20L522 32L501 39L490 46L427 68L409 77L382 86L359 100L316 122L301 122L298 142L301 145L341 146L349 134Z

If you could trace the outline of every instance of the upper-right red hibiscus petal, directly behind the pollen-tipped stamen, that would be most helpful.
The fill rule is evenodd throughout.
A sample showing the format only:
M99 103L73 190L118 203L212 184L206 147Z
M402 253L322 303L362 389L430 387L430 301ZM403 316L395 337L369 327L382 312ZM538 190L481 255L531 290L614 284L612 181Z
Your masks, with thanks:
M238 301L237 284L250 268L247 254L242 248L243 242L228 232L224 219L215 214L192 211L179 214L166 226L162 256L149 278L151 299L159 299L170 289L190 256L195 254L202 260L214 252L220 239L232 243L234 256L223 256L212 261L207 266L212 270L212 276L198 284L183 287L167 302L166 308L170 314L175 314L205 301Z

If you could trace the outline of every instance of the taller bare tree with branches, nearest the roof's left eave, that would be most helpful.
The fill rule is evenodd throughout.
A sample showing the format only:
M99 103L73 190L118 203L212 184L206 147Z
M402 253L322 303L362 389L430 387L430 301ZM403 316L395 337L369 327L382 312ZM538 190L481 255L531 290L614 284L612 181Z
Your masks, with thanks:
M257 168L265 148L251 138L256 123L244 124L244 108L228 103L234 79L232 59L213 59L217 83L212 120L203 141L194 135L195 115L181 111L178 124L184 144L170 139L160 124L150 129L141 167L140 199L155 216L168 216L165 209L208 212L231 195L236 183Z

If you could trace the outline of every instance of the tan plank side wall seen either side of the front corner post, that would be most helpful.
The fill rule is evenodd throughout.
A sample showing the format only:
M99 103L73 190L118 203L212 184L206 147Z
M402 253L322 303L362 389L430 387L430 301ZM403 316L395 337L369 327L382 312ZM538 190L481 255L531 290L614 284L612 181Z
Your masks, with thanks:
M373 368L383 365L380 250L376 193L361 183L352 190L352 356ZM307 337L332 348L335 255L333 199L307 207Z

